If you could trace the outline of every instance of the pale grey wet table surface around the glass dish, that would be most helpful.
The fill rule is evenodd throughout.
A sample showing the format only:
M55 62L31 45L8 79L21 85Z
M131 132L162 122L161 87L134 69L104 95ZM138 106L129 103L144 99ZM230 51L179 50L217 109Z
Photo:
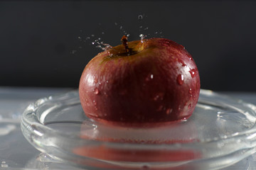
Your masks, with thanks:
M55 162L32 147L20 128L21 114L26 106L38 98L62 94L72 89L0 87L0 170L79 169ZM256 93L220 92L256 105ZM63 166L64 165L64 166ZM256 154L223 170L256 170Z

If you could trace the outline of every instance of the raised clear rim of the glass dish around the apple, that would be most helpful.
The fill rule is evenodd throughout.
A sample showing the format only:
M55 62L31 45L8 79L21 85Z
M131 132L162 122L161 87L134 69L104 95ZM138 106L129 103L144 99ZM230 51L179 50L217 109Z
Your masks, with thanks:
M65 93L64 95L67 95L67 94L72 94L74 96L77 96L78 97L78 91L77 90L73 90L73 91L68 91L67 93ZM247 103L247 102L244 102L240 99L237 99L237 98L232 98L230 96L226 96L226 95L223 95L223 94L218 94L216 92L213 92L213 91L210 91L210 90L206 90L206 89L201 89L200 91L200 94L201 95L205 95L205 96L218 96L218 97L221 97L221 98L225 98L227 100L230 100L230 101L234 101L234 102L238 102L239 104L242 104L243 106L247 107L247 108L250 108L253 112L255 112L255 116L256 116L256 106L251 104L251 103ZM201 95L199 97L199 100L201 98ZM43 125L42 123L40 123L40 120L35 120L35 122L33 121L30 121L32 120L31 118L26 118L26 114L28 113L31 113L31 112L36 112L35 108L37 109L38 107L41 106L42 103L45 103L45 102L48 102L50 100L52 100L52 98L58 98L60 96L63 96L63 94L58 94L58 95L53 95L53 96L48 96L48 97L45 97L45 98L40 98L38 99L37 101L31 103L27 108L26 110L23 112L22 116L21 116L21 125L30 125L30 128L31 128L31 131L33 132L36 132L40 135L40 133L42 132L46 132L48 133L48 135L58 135L58 137L62 137L62 138L65 138L65 137L69 137L70 138L70 133L64 133L64 132L59 132L58 130L55 130L53 128L50 128L46 125ZM199 101L198 100L198 101ZM37 118L36 115L33 116L33 118ZM82 124L82 123L81 123ZM255 125L253 125L253 127L256 127L256 123ZM22 129L22 128L21 128ZM253 129L253 128L250 128L250 130L246 130L244 132L238 132L238 133L235 133L235 134L231 134L231 135L227 135L227 136L223 136L223 137L215 137L214 139L212 140L206 140L206 141L193 141L193 142L188 142L188 143L174 143L174 144L164 144L164 143L161 143L159 145L156 145L156 144L146 144L146 146L154 146L154 147L157 147L157 146L160 146L160 147L165 147L165 149L173 149L173 147L181 147L181 145L184 145L184 146L189 146L189 145L193 145L193 148L195 147L195 144L206 144L206 143L210 143L210 142L219 142L219 141L222 141L222 140L230 140L230 138L234 138L234 137L242 137L242 136L247 136L250 135L250 134L254 134L256 133L256 128ZM139 144L139 143L124 143L124 142L108 142L108 141L100 141L100 140L92 140L92 139L82 139L79 137L79 135L73 135L73 137L75 137L77 140L81 140L80 142L93 142L95 144L95 142L97 144L104 144L104 145L129 145L129 146L132 146L132 147L142 147L142 146L145 146L145 145L142 145L142 144ZM200 147L200 146L199 146Z

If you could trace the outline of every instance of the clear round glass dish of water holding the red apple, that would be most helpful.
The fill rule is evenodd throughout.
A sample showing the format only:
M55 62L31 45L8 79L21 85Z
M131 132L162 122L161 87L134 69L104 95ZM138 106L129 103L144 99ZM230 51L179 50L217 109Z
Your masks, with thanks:
M87 169L221 169L255 153L256 106L201 90L186 121L154 128L102 125L85 116L78 91L26 108L28 142L58 162Z

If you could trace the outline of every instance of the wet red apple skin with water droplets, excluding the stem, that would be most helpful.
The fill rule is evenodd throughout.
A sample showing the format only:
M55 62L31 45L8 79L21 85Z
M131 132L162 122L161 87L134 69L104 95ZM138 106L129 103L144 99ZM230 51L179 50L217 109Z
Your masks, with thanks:
M196 63L182 45L164 38L128 42L100 52L79 84L85 115L100 123L164 125L189 118L200 92Z

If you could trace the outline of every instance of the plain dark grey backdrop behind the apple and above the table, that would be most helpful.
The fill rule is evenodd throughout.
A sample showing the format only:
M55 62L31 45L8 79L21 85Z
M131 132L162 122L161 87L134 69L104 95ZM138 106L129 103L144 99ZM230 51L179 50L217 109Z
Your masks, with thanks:
M91 42L125 32L185 46L203 89L255 91L255 21L255 1L0 1L0 86L78 88Z

